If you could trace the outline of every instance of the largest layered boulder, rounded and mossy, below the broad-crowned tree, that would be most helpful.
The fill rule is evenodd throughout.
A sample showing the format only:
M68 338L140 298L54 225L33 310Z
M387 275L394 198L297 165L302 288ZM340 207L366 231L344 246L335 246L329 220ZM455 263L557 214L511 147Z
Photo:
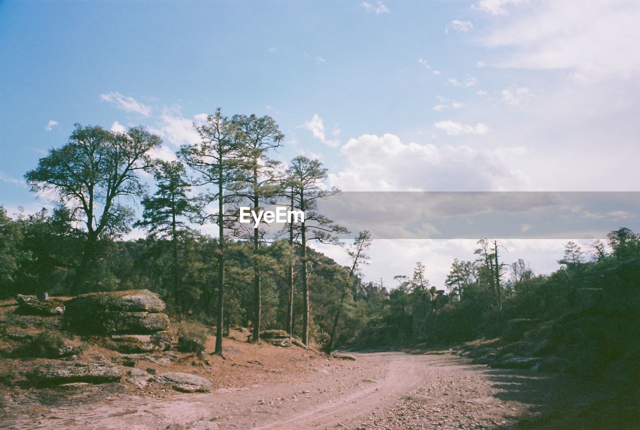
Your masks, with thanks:
M150 334L167 330L164 302L147 290L96 292L67 302L65 324L83 334Z

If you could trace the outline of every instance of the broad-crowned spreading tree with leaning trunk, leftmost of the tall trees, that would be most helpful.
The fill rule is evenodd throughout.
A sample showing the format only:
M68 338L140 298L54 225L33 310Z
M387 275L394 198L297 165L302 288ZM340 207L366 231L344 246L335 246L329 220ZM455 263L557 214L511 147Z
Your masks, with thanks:
M49 150L24 175L32 191L53 191L84 225L84 250L73 294L83 289L99 239L130 230L133 211L125 200L143 194L137 173L147 168L149 152L159 145L161 139L143 127L121 133L76 124L66 145Z

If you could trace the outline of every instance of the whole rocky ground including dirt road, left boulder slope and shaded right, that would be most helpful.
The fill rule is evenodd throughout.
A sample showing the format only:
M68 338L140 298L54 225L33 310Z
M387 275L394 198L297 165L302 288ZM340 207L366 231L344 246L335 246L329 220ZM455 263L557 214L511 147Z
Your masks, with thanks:
M221 357L206 326L168 326L150 292L81 297L76 311L21 300L0 303L1 428L640 428L625 367L572 376L547 338L328 357L237 328Z

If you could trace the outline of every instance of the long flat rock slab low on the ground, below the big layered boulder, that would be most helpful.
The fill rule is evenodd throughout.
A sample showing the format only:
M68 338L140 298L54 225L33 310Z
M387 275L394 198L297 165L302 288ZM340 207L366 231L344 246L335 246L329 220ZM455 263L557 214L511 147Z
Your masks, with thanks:
M73 382L99 384L120 380L120 370L104 362L50 363L37 367L26 375L37 386L60 385Z

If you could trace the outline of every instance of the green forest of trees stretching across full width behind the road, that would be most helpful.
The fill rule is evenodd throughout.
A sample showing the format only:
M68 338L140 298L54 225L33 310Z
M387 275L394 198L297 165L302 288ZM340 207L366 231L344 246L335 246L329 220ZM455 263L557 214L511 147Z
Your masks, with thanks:
M78 125L25 175L34 191L61 204L31 215L0 208L0 295L149 289L176 319L216 326L220 352L234 326L252 327L254 340L260 330L284 329L327 351L462 342L503 335L513 319L557 319L586 289L632 289L636 298L640 291L640 235L627 228L590 251L568 243L550 275L504 261L499 241L480 239L469 260L452 262L445 289L429 284L421 262L412 275L396 276L397 285L364 283L367 231L349 246L346 267L308 246L341 246L337 234L346 232L317 212L318 199L340 192L324 186L319 161L296 157L287 168L273 161L284 136L268 116L218 110L194 127L201 141L182 147L177 161L161 161L153 157L160 138L142 127L118 133ZM143 171L154 177L153 192ZM305 211L305 223L276 237L237 223L240 205L273 203ZM193 227L204 223L223 234ZM123 241L134 226L147 237Z

